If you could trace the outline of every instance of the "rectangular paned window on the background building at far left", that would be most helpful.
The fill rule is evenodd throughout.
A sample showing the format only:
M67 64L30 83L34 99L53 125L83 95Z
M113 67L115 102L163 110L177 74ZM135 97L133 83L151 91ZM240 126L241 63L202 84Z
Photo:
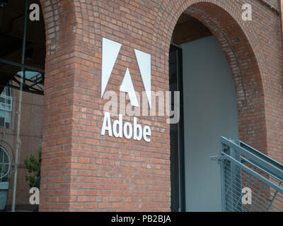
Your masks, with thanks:
M12 113L12 97L11 88L5 87L0 95L0 127L11 128L11 113Z

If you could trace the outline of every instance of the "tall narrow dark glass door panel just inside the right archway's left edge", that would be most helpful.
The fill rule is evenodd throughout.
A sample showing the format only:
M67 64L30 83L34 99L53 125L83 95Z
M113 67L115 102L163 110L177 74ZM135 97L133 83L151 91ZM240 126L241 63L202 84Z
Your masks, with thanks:
M171 107L174 106L174 91L180 92L180 121L171 124L171 211L185 211L185 167L184 167L184 117L183 117L183 67L182 49L171 44L169 52L169 83Z

